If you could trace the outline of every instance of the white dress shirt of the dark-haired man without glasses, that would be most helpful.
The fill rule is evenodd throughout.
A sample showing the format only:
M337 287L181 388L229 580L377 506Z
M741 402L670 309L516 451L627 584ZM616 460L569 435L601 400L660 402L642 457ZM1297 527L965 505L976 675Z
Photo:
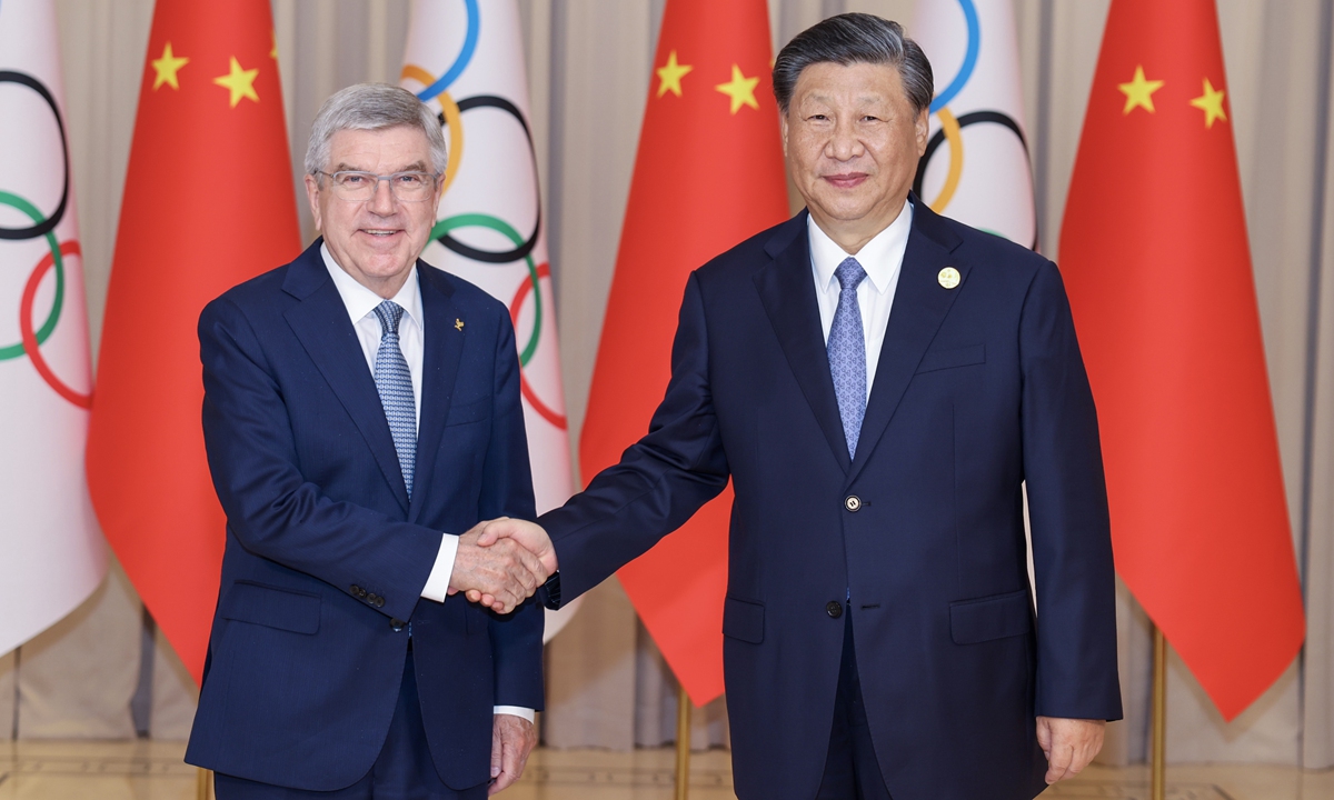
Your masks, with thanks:
M843 259L854 255L844 252L824 231L820 231L815 217L806 217L806 229L811 240L811 273L815 277L815 299L820 307L820 328L824 331L827 345L842 291L834 271ZM862 309L862 333L866 336L867 399L871 397L875 368L880 363L880 345L884 343L884 329L890 324L890 308L894 305L894 291L899 285L899 269L903 267L903 252L908 247L911 229L912 204L904 200L903 211L890 227L876 233L854 256L866 271L866 280L856 287L856 304Z

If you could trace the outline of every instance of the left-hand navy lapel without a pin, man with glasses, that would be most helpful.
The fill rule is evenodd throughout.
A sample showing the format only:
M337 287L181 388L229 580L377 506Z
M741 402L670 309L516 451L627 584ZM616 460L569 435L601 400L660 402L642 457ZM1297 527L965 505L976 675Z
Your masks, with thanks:
M324 376L324 381L356 423L384 480L388 481L399 505L407 512L407 485L403 483L390 423L384 419L384 407L380 405L380 393L366 365L366 353L347 316L343 297L324 268L319 245L320 240L316 240L288 268L283 289L301 303L289 308L283 316Z

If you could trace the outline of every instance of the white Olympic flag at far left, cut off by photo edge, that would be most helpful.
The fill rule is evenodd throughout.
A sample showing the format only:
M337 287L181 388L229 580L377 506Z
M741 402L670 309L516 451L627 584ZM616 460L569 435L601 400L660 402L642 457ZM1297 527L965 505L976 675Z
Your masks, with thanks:
M92 372L53 0L0 0L0 653L107 572L88 500Z

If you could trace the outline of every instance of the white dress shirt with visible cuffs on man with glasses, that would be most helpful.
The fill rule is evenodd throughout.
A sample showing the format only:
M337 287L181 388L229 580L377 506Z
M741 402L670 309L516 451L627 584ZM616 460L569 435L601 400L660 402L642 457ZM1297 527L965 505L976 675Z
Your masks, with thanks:
M362 355L366 356L366 365L370 367L374 376L375 353L380 349L380 336L383 333L380 331L380 319L375 316L375 307L383 303L384 297L358 283L356 279L339 267L324 244L320 245L320 256L324 257L324 268L329 271L334 287L338 288L338 293L343 299L343 305L347 307L347 315L352 319L352 328L356 331L356 340L362 344ZM391 300L403 307L403 319L399 320L399 348L403 351L403 359L408 363L408 375L412 377L412 404L416 407L416 421L420 429L422 359L426 352L426 317L422 316L422 291L418 285L416 264L412 265L412 271L403 283L403 288ZM454 572L454 557L458 552L459 537L451 533L442 535L440 551L435 556L435 565L431 567L431 575L427 576L426 587L422 588L423 597L444 603L450 591L450 575ZM516 705L496 705L495 713L512 713L530 723L535 719L531 708Z

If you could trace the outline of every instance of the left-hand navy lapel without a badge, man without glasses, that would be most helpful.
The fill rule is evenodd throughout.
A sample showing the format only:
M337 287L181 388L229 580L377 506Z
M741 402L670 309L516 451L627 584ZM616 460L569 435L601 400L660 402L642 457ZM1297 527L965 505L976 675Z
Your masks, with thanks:
M846 472L847 440L843 436L820 328L806 216L806 212L796 215L770 240L766 249L774 260L755 273L755 287L796 383L815 413L834 457Z

